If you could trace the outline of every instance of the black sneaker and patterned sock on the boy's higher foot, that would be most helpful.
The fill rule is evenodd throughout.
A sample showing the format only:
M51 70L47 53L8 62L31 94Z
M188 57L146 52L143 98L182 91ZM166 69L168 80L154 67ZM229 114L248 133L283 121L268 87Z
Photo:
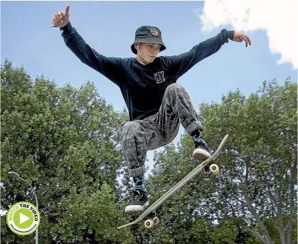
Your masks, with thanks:
M204 141L202 137L202 133L198 131L196 135L193 135L193 143L195 144L195 150L193 151L193 158L197 159L198 161L205 161L209 157L211 157L211 150L208 148L206 141ZM205 172L209 171L209 166L214 163L211 161L204 167Z

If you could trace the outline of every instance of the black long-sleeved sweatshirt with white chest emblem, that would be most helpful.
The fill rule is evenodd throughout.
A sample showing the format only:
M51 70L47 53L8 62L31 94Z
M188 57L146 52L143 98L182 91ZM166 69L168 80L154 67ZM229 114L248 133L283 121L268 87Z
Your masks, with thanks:
M70 23L61 29L66 46L81 62L120 87L130 120L143 119L157 113L168 85L175 83L182 74L219 51L228 39L233 40L234 37L234 31L223 29L217 36L200 42L186 53L159 56L144 66L135 57L105 57L97 53Z

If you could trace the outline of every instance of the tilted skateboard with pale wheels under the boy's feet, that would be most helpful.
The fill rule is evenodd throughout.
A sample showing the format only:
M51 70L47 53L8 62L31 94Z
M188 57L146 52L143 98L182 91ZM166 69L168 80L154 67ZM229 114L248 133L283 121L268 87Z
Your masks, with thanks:
M167 191L164 195L159 198L156 202L154 202L150 207L144 211L144 213L141 213L135 221L132 221L131 223L126 223L123 226L119 226L117 229L120 230L122 228L128 227L128 226L133 226L135 223L138 223L139 221L143 220L146 216L150 216L150 219L146 219L144 222L144 225L146 228L152 228L153 226L157 226L159 223L159 218L156 215L155 210L165 202L168 198L170 198L171 195L173 195L178 189L182 188L189 180L191 180L194 176L196 176L198 173L200 173L204 167L210 164L209 170L213 174L218 174L219 173L219 167L214 163L214 160L217 158L219 155L219 152L223 148L223 146L226 144L226 141L228 140L228 134L223 137L221 140L221 143L219 144L217 150L215 150L214 154L211 155L208 159L203 161L200 165L195 167L193 171L191 171L185 178L182 178L174 187L172 187L169 191Z

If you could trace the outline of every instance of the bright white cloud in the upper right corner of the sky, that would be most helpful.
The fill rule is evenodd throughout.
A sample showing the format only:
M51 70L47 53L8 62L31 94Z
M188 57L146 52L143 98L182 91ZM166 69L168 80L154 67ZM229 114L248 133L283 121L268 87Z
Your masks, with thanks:
M271 53L281 55L277 64L291 63L298 68L297 7L296 0L206 0L202 11L193 11L201 19L203 31L221 25L232 25L238 32L265 30Z

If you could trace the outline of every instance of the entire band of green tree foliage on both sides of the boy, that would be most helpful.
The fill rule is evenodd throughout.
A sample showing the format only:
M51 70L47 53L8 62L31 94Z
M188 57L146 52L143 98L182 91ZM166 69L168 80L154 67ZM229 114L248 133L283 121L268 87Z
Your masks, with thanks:
M158 210L159 226L116 230L138 215L124 213L132 187L118 129L128 120L98 96L93 83L79 89L35 81L6 61L1 67L1 208L38 195L40 243L282 243L297 241L297 84L265 81L254 94L239 90L221 103L200 105L203 136L217 148L220 174L195 176ZM182 135L154 155L147 182L157 200L198 165L193 141ZM122 185L118 183L122 176ZM34 243L1 218L3 243Z

